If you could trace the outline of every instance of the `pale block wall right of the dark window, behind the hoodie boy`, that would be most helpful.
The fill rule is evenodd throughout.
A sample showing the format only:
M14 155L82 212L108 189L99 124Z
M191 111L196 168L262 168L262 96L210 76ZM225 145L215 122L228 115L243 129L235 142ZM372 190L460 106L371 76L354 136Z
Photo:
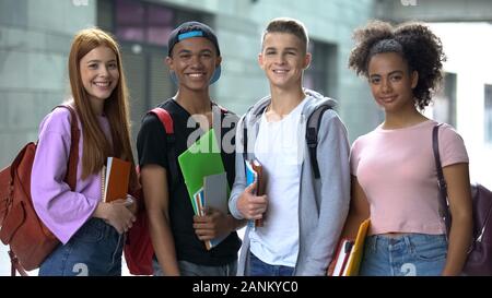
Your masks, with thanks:
M339 114L349 128L350 139L373 129L380 120L365 82L347 68L353 43L352 32L372 17L373 0L162 0L154 1L185 9L203 10L213 15L213 27L221 43L223 76L212 87L218 100L243 114L268 94L268 83L257 63L260 36L273 17L302 21L309 37L333 44L337 49L335 94Z

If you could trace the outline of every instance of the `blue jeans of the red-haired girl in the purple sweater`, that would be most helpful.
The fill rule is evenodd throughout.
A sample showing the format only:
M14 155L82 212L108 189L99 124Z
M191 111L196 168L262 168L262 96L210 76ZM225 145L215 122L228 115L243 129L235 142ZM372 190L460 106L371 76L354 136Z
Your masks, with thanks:
M121 275L124 238L103 219L91 218L46 258L39 276Z

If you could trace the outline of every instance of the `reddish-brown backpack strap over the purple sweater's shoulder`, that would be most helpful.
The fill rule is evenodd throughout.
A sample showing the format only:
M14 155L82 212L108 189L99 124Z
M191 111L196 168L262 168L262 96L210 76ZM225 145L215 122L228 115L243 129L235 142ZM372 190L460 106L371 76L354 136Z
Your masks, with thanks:
M78 117L75 109L70 105L60 105L57 108L66 108L70 111L70 154L69 154L69 163L67 168L67 176L65 177L65 181L69 184L71 190L75 190L77 186L77 165L79 164L79 140L80 140L80 130L78 126Z

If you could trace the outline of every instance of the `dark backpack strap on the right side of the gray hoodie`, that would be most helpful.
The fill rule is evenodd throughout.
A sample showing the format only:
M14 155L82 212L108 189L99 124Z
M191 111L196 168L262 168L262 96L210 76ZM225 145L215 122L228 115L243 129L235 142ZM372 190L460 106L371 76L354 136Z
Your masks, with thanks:
M316 150L318 147L318 129L321 123L323 114L331 109L330 105L320 105L309 115L306 124L306 143L309 151L309 159L315 179L319 179L319 166L316 158Z

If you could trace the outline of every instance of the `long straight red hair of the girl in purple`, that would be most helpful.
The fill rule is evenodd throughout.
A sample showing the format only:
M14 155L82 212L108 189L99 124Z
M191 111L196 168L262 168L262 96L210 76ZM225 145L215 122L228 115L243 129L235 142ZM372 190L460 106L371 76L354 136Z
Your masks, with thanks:
M98 126L97 117L91 108L89 94L82 84L80 60L99 46L108 47L115 52L119 80L112 95L104 102L104 115L107 117L112 132L113 146ZM130 144L130 117L128 91L121 64L119 46L107 33L98 28L80 31L73 38L69 57L69 79L75 110L82 123L83 153L82 179L97 174L108 156L116 156L132 164L131 182L137 187L133 154Z

